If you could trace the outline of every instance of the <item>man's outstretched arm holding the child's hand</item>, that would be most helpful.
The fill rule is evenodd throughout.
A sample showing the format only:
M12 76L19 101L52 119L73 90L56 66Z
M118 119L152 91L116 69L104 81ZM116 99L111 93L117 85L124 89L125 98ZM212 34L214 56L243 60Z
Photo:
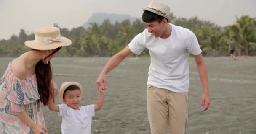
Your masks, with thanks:
M130 54L132 54L129 46L126 46L122 51L118 52L114 56L112 56L105 67L102 69L101 73L99 74L99 77L96 81L98 89L104 89L107 88L107 78L106 74L110 72L112 69L117 67L120 62L123 61L126 57L128 57Z

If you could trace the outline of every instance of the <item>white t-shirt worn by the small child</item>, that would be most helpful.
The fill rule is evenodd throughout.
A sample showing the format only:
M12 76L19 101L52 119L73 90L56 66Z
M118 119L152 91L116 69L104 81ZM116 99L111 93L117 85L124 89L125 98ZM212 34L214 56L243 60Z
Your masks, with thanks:
M60 104L59 116L62 116L61 134L91 134L91 122L94 116L94 105L81 106L75 110Z

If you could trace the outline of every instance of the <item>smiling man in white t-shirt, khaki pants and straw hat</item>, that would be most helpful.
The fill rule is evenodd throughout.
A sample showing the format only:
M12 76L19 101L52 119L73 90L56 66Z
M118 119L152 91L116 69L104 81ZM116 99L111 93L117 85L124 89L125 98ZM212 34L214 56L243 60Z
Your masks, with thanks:
M170 8L152 1L143 8L142 20L147 29L139 33L122 51L115 54L96 81L98 88L107 88L106 74L130 54L149 49L151 64L147 80L147 113L151 134L184 134L188 118L189 66L193 54L203 85L202 106L208 109L208 74L197 38L192 31L171 23Z

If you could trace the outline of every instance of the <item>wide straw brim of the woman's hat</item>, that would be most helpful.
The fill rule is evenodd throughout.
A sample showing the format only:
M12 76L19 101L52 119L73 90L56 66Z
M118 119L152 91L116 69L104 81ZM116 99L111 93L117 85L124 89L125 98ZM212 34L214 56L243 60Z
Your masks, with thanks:
M72 41L66 37L61 37L61 42L52 42L51 44L43 44L33 41L25 41L24 43L27 47L35 50L52 50L61 46L69 46L72 44Z

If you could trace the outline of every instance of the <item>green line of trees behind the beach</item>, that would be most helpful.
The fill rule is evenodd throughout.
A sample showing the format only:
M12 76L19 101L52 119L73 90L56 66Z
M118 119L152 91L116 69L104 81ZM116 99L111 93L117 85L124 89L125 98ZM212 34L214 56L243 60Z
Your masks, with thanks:
M238 55L256 55L256 18L248 15L236 18L230 26L218 26L211 21L201 20L197 17L182 18L171 14L171 23L189 28L198 39L203 54L206 56L228 55L228 40L236 40ZM58 24L53 26L59 27ZM133 21L116 21L114 24L109 19L99 25L90 23L88 28L82 26L61 28L61 36L72 40L72 45L63 47L59 56L63 57L107 57L123 49L138 33L146 27L140 19ZM19 35L12 35L10 39L0 40L0 57L17 57L29 49L24 45L27 40L34 40L34 33L27 34L21 29ZM147 49L142 55L149 55Z

